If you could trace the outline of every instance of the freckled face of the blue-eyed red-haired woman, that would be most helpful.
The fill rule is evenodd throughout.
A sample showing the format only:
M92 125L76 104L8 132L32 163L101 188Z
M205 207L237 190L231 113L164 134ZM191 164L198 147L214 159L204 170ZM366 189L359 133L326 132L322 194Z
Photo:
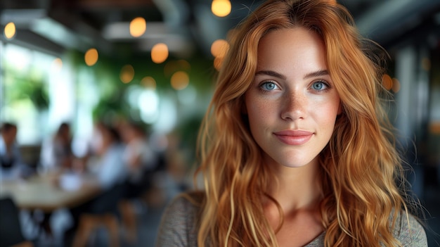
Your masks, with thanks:
M316 162L340 113L320 37L295 27L261 39L245 106L266 163L301 167Z

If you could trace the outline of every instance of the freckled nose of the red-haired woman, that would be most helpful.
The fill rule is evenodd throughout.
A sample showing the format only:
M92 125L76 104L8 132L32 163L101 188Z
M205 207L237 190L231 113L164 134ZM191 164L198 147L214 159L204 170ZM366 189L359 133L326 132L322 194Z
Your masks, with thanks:
M308 106L306 96L304 94L295 92L283 96L281 107L281 118L283 120L298 120L306 117L306 109Z

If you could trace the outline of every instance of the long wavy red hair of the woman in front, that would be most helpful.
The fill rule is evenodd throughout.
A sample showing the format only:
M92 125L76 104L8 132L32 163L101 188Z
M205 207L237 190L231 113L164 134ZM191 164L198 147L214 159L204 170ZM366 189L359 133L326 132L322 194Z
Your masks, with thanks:
M198 245L278 246L261 205L276 177L261 163L262 151L242 109L257 68L259 40L293 27L306 27L323 39L343 108L320 155L325 246L397 246L389 219L396 219L406 203L395 183L402 179L401 159L379 98L381 59L370 52L367 44L373 43L361 39L347 9L329 0L266 1L230 40L200 129L196 176L203 176L205 192Z

